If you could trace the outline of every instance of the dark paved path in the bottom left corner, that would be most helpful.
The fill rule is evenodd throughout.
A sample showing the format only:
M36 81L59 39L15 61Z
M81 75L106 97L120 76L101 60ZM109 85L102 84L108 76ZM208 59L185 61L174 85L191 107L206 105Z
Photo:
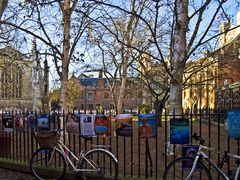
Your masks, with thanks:
M0 168L0 180L34 180L35 178L30 174L24 174L17 171L10 171Z

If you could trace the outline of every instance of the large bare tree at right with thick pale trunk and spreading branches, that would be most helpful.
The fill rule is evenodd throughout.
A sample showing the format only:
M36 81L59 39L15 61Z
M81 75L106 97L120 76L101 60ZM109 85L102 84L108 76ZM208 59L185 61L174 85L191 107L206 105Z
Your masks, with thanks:
M197 52L203 52L207 43L216 41L221 21L229 20L225 7L231 4L228 0L203 2L188 0L149 0L144 1L144 9L141 13L130 8L128 3L111 1L90 2L101 5L104 11L110 8L111 18L114 19L119 12L135 16L139 24L144 24L149 30L145 41L151 42L151 51L144 51L135 44L127 43L119 38L119 34L108 29L107 24L101 19L95 19L113 34L118 42L124 46L142 52L161 63L170 79L170 109L171 113L182 112L183 74L186 63L196 58ZM228 2L228 3L226 3ZM142 4L141 0L133 0L132 4ZM126 6L124 6L124 5ZM99 10L98 10L99 11ZM104 11L105 12L105 11ZM92 17L94 19L94 17ZM216 31L217 30L217 31ZM170 54L170 55L169 55ZM168 65L170 63L170 66Z

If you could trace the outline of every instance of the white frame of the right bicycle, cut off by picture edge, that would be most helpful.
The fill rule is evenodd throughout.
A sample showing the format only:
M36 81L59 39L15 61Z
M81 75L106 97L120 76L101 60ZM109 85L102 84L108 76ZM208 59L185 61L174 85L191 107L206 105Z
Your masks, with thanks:
M198 149L198 152L197 152L197 155L194 159L194 162L193 162L193 166L192 166L192 169L189 173L189 175L187 176L186 180L190 179L196 166L197 166L197 163L198 163L198 160L202 157L204 159L206 159L208 161L208 163L211 165L211 167L218 173L220 174L223 178L225 178L225 180L230 180L229 177L226 176L226 174L216 165L214 164L211 159L202 151L202 150L208 150L208 151L211 151L212 148L209 148L207 146L203 146L203 145L200 145L199 146L199 149ZM232 158L235 158L235 159L238 159L240 160L240 156L237 156L237 155L233 155L233 154L230 154L230 153L227 153L227 156L229 157L232 157ZM234 177L234 180L238 180L238 177L239 177L239 173L240 173L240 165L238 164L237 166L237 170L236 170L236 173L235 173L235 177Z

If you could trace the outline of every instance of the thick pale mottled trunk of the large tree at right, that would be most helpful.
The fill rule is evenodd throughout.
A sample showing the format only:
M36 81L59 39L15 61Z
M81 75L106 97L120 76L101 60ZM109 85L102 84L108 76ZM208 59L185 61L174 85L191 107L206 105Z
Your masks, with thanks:
M170 86L170 114L182 113L183 72L186 64L188 31L188 0L175 2L174 56L172 64L173 79Z

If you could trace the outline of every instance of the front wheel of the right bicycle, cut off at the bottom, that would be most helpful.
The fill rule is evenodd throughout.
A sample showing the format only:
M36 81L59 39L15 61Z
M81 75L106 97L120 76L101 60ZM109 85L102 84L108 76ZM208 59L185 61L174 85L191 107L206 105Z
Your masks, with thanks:
M175 159L166 167L163 180L185 180L191 171L193 160L194 159L186 157ZM199 161L190 179L211 180L212 178L207 167Z

